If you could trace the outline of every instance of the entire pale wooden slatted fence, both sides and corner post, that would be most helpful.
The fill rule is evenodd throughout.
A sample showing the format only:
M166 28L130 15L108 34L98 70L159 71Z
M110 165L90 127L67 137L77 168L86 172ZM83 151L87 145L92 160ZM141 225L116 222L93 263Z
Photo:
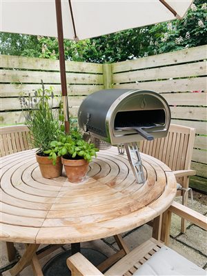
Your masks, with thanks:
M196 128L191 184L206 190L207 183L207 72L206 46L144 57L133 61L97 64L66 61L70 115L81 101L103 88L155 90L170 104L172 123ZM1 124L23 122L19 93L41 87L41 79L60 95L59 61L1 55ZM199 91L199 92L195 92ZM200 186L199 186L200 185Z

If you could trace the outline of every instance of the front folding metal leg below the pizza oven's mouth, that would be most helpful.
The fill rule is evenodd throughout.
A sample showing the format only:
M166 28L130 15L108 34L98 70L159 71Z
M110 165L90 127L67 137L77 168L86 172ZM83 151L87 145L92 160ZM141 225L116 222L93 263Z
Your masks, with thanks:
M124 144L128 161L130 162L132 172L135 175L135 179L138 184L144 184L144 172L141 164L141 157L139 155L139 149L136 142L130 144Z

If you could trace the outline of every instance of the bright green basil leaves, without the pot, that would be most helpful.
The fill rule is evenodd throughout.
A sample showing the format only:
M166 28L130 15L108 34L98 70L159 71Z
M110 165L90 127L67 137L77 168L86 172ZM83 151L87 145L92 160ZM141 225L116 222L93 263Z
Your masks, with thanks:
M50 142L50 149L44 153L49 155L55 164L57 157L65 159L85 159L92 161L92 157L97 157L96 152L99 151L92 143L83 140L78 130L71 130L70 135L60 135L59 139Z

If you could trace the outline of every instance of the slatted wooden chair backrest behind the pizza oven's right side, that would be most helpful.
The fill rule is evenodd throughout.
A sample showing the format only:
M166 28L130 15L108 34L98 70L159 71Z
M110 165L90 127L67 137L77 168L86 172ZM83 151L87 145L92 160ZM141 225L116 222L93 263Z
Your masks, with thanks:
M188 170L194 140L195 128L171 124L166 137L154 141L143 140L139 150L163 161L171 170Z

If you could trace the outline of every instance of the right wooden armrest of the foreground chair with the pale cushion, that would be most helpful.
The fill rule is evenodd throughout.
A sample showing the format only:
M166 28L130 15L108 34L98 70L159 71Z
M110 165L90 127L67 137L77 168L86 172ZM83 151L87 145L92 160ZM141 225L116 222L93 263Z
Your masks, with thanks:
M183 217L184 219L193 222L193 224L199 226L200 228L207 230L207 217L201 215L197 211L179 204L176 201L172 202L168 210L170 210L172 213L175 213L176 215L179 215L180 217Z

